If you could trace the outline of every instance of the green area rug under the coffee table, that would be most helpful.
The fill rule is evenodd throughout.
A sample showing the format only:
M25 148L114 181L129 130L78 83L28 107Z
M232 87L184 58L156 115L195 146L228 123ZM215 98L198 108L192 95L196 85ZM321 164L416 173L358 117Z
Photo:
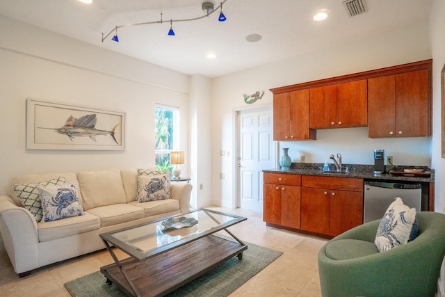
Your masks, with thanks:
M172 291L168 296L227 296L282 255L282 252L277 250L253 243L246 244L248 249L243 252L243 259L238 260L238 257L233 257L176 291ZM65 288L73 297L126 296L115 284L109 285L105 282L105 276L97 271L67 282Z

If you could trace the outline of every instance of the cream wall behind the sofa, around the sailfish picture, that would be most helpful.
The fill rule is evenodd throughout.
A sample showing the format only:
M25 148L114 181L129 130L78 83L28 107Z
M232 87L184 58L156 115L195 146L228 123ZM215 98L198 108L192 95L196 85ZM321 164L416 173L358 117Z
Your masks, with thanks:
M179 106L189 156L190 77L6 17L0 28L0 193L25 173L154 166L156 103ZM126 112L126 150L26 150L26 98Z

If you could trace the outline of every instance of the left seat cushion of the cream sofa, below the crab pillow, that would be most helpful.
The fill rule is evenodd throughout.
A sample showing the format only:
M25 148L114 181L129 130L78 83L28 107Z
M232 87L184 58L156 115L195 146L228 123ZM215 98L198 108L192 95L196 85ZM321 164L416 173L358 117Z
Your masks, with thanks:
M83 216L63 220L40 222L37 226L39 241L43 242L97 230L100 227L100 220L97 216L86 213Z

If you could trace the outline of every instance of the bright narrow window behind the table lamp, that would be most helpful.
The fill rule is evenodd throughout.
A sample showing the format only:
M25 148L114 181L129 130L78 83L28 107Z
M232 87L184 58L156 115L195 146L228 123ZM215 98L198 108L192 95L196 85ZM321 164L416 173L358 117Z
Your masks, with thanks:
M154 118L156 168L172 171L170 151L179 146L179 109L172 106L156 106Z

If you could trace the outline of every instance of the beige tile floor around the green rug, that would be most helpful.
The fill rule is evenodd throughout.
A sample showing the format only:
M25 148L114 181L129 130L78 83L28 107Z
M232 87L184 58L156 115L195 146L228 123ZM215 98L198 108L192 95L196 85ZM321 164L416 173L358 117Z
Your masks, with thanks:
M261 214L241 209L209 207L225 211L248 220L230 227L243 241L280 250L284 254L253 278L236 289L234 296L321 296L318 278L317 253L327 241L266 227ZM70 296L63 284L83 275L98 271L101 266L113 262L106 250L45 266L26 278L19 279L14 273L8 255L0 251L0 296Z

